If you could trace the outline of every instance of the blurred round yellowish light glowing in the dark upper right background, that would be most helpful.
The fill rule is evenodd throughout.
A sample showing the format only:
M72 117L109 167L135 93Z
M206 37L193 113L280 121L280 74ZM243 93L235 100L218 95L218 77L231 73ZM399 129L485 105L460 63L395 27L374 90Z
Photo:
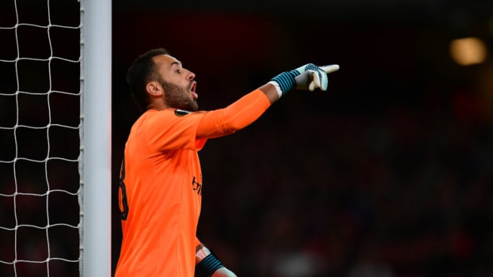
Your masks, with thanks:
M458 38L451 41L450 53L461 66L481 64L486 60L485 43L479 38Z

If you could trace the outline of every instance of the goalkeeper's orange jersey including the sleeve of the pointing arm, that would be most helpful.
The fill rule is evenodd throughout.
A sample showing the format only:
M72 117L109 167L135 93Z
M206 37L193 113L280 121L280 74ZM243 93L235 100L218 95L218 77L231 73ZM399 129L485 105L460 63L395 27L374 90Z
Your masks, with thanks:
M123 241L115 277L194 276L202 194L197 151L208 137L247 126L269 105L255 90L225 109L148 110L138 118L121 170Z

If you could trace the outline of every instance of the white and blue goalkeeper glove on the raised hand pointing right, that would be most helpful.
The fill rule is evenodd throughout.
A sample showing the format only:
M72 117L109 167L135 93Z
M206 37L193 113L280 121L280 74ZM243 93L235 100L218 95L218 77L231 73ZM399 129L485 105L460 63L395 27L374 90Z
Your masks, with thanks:
M327 74L339 70L338 64L328 66L316 66L314 64L305 64L294 70L282 72L269 83L272 83L279 93L279 97L286 92L297 88L299 90L314 91L317 88L325 91L329 83Z

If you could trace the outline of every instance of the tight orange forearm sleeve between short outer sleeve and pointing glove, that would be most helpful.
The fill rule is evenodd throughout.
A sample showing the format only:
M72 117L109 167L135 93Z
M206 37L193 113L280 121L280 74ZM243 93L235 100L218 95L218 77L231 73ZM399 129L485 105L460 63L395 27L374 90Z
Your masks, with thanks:
M234 133L259 118L270 107L262 90L254 90L224 109L203 114L197 126L197 137L212 138Z

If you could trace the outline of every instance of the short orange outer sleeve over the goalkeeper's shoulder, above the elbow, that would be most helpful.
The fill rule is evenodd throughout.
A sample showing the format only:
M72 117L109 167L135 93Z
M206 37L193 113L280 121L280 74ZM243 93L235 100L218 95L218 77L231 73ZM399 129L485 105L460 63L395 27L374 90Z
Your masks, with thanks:
M201 113L188 113L177 109L152 111L143 131L147 133L149 146L166 152L176 149L200 150L207 139L197 139L197 126Z

